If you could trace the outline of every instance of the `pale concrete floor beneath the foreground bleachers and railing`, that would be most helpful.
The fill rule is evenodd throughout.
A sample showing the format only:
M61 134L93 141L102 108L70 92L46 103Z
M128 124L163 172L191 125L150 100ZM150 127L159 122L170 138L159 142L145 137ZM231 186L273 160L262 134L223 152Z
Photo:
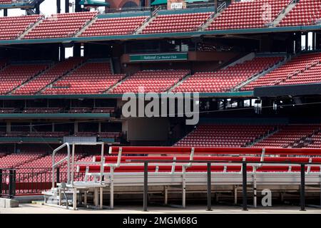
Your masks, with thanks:
M307 207L305 212L300 212L299 207L292 206L249 208L248 212L243 212L240 207L233 206L213 206L212 212L207 212L205 209L204 206L190 206L186 209L151 206L148 207L148 212L143 212L142 207L119 206L113 210L79 209L72 211L40 204L20 204L17 208L0 208L0 214L321 214L321 209Z

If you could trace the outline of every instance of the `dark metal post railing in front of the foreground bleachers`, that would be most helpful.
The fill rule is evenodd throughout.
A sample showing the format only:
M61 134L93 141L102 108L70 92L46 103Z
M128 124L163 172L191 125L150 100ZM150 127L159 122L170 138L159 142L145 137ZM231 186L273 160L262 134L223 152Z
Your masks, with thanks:
M170 162L172 163L173 160L127 160L127 162L141 162L144 165L144 175L143 175L143 211L147 211L148 209L148 163L150 162L160 162L160 163L166 163ZM300 165L300 210L305 211L305 167L311 167L313 165L317 165L321 167L321 163L307 163L307 162L250 162L250 161L243 161L243 162L237 162L237 161L213 161L213 160L176 160L175 162L183 162L183 163L203 163L207 164L207 210L212 210L212 170L211 166L212 164L222 164L222 163L229 163L229 164L239 164L242 165L241 172L242 172L242 178L243 178L243 211L248 210L248 164L254 164L257 165L257 167L260 167L260 165L264 164L281 164L281 165ZM255 172L255 169L254 169ZM309 169L307 170L309 172ZM215 180L214 180L215 181ZM321 196L321 190L320 190L320 196Z

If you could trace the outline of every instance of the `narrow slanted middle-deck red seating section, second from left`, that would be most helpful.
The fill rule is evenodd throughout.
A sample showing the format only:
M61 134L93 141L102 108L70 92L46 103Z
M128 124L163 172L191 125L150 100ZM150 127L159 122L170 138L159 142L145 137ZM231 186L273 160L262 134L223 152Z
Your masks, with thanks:
M58 78L73 70L84 61L83 58L69 58L66 61L57 63L54 67L50 68L41 76L34 78L33 80L21 86L14 91L14 95L30 95L39 92L42 88L49 85Z

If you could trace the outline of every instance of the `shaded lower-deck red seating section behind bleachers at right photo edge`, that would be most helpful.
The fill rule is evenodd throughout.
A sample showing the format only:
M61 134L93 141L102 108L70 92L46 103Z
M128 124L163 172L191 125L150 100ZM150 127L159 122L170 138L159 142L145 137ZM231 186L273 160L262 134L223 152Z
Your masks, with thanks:
M300 145L300 140L320 130L321 125L285 125L269 137L255 143L253 147L293 147Z

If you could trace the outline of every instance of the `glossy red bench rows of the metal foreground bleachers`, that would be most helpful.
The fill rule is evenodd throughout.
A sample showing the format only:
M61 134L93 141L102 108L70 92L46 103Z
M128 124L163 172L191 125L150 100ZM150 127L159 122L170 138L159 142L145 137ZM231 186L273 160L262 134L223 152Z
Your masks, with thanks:
M118 162L118 147L112 147L111 154L104 157L105 164L115 164ZM133 156L134 154L139 156ZM193 151L194 161L211 160L218 162L213 164L211 170L213 172L240 172L241 164L231 164L230 162L310 162L311 164L320 163L320 157L312 157L321 155L320 150L265 150L265 155L262 154L261 148L204 148L195 147ZM143 172L143 163L133 160L190 160L191 147L122 147L120 166L116 167L114 172ZM238 156L231 156L238 155ZM300 157L305 155L305 157ZM93 162L101 162L101 156L93 157ZM157 165L155 163L158 163ZM220 164L221 163L221 164ZM150 162L148 172L172 172L173 164L159 165L160 162ZM174 171L182 172L182 164L175 163ZM186 165L186 163L185 163ZM110 172L110 166L103 167L104 172ZM206 172L207 165L192 163L187 167L186 172ZM307 166L305 167L307 170ZM79 172L100 172L101 165L78 165ZM254 165L248 164L248 172L253 172ZM300 172L300 165L277 165L264 164L256 169L257 172ZM310 172L320 172L320 165L310 167Z

